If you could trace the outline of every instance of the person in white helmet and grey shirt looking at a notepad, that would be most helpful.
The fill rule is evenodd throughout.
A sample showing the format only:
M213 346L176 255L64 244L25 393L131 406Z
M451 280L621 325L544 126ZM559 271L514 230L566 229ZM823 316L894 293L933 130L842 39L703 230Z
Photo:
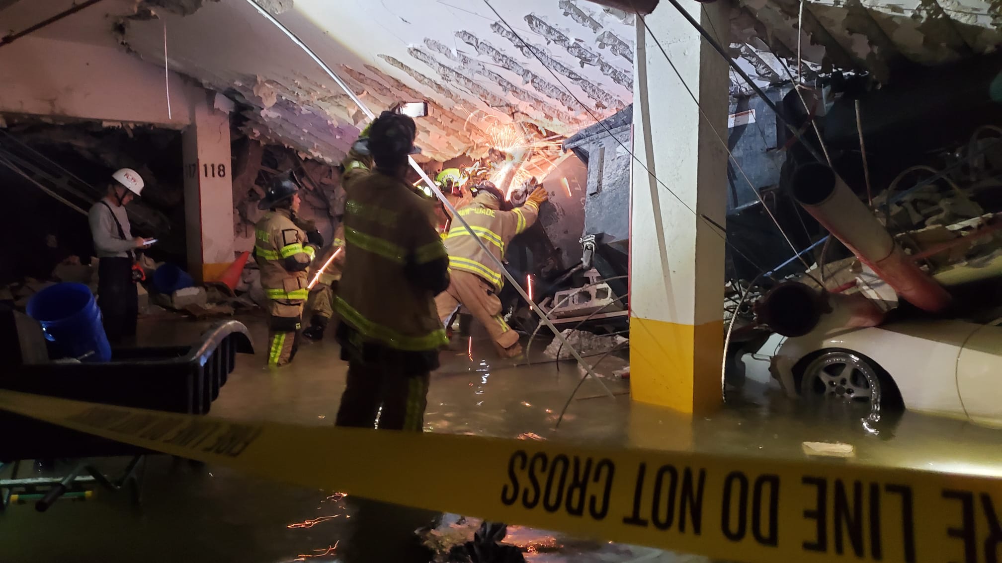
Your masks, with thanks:
M111 175L107 193L90 207L87 216L97 267L97 306L101 309L104 332L111 343L135 336L138 298L132 279L136 248L145 248L141 236L132 236L125 204L142 192L142 177L131 168Z

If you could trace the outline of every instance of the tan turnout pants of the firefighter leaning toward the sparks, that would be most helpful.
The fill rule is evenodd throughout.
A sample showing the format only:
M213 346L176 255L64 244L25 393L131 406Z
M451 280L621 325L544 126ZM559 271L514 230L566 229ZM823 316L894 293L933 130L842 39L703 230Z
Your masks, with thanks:
M512 358L522 353L518 333L501 317L501 300L494 289L482 277L468 271L453 269L449 272L449 289L435 298L435 307L442 323L446 323L460 305L466 307L490 334L494 348L502 358Z

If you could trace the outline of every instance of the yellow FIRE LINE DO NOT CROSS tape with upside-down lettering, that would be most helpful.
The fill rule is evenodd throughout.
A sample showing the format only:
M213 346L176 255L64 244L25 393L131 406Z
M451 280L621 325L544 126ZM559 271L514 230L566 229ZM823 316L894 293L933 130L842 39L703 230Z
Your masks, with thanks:
M747 563L995 563L978 476L246 423L0 391L0 409L269 479Z

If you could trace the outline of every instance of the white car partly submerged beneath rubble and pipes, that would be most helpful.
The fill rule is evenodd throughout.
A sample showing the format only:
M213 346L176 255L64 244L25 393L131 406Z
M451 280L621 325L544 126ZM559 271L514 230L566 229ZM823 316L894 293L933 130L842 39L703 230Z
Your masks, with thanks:
M908 321L784 341L770 371L791 397L1002 427L1002 320Z

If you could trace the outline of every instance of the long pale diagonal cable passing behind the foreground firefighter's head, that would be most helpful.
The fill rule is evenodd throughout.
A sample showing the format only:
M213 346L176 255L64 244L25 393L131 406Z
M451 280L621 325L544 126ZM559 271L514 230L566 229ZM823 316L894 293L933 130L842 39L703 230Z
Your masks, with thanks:
M306 43L304 43L299 37L297 37L295 33L293 33L292 31L290 31L289 28L287 28L285 25L283 25L282 22L280 22L278 19L276 19L275 16L273 16L271 13L269 13L268 10L265 10L264 8L262 8L254 0L246 0L246 2L248 4L250 4L250 6L253 6L256 10L258 10L258 13L260 13L262 16L264 16L266 19L268 19L273 25L275 25L277 28L279 28L287 37L289 37L294 43L296 43L296 45L299 46L304 52L306 52L310 56L310 58L312 58L324 70L324 72L326 72L327 75L330 76L331 79L334 80L338 84L338 86L340 86L341 89L344 90L346 94L348 94L348 96L350 98L352 98L352 101L354 101L355 104L359 107L359 109L361 109L370 119L375 119L376 118L376 114L373 113L373 111L371 109L369 109L369 107L366 106L365 103L362 102L362 99L359 98L358 94L356 94L355 91L352 90L348 86L348 84L345 83L345 81L342 80L341 77L338 76L337 73L335 73L334 70L332 70L331 67L328 66L327 63L325 63L323 61L323 59L320 58L320 56L317 55L317 53L315 53L309 46L307 46ZM485 0L485 2L486 2L486 0ZM536 306L536 304L533 303L533 301L529 299L529 296L526 295L525 291L519 285L518 280L515 279L511 275L511 273L508 271L508 268L506 268L504 266L504 262L502 262L500 259L498 259L490 251L490 249L484 244L484 241L481 240L479 236L477 236L477 233L474 232L473 228L469 225L469 223L466 222L466 219L464 219L463 216L460 215L456 211L456 207L454 207L453 204L449 201L449 199L445 196L445 194L442 193L442 190L438 188L438 185L436 185L434 181L432 181L432 179L428 176L428 174L425 172L425 170L421 166L418 165L417 161L414 160L414 157L408 156L407 158L408 158L408 160L409 160L409 162L411 164L411 167L414 168L414 170L418 172L418 175L420 175L421 179L423 179L425 181L425 184L428 187L430 187L432 189L432 191L435 192L435 195L438 196L439 200L442 201L442 204L446 206L446 208L450 211L450 213L452 214L452 216L455 219L458 219L459 222L460 222L460 224L462 224L463 227L466 228L467 232L469 232L470 236L473 237L474 240L476 240L476 242L480 246L480 248L487 255L489 255L491 257L491 259L494 261L494 263L500 269L502 275L504 275L505 278L508 280L508 283L512 285L512 288L518 293L518 295L521 296L522 299L525 300L526 303L528 303L530 305L531 311L535 312L536 315L539 316L540 321L542 321L542 323L544 325L546 325L547 328L550 329L550 331L553 332L553 335L554 335L554 337L557 340L559 340L562 344L567 345L567 350L571 353L571 356L574 357L574 360L576 360L578 362L578 364L580 364L581 367L584 368L584 370L587 372L587 374L592 379L594 379L598 383L598 385L600 385L602 387L602 389L609 396L609 398L614 401L615 400L615 396L612 395L612 392L609 391L609 388L606 387L604 383L602 383L602 381L601 381L601 379L599 379L598 375L595 374L594 370L591 369L591 365L589 365L587 362L584 361L584 359L581 358L581 356L577 353L577 351L574 350L574 348L571 347L567 343L567 340L564 339L563 335L561 335L560 332L557 331L557 328L554 327L552 323L550 323L549 319L547 319L545 315L543 315L543 313L539 310L539 307Z

